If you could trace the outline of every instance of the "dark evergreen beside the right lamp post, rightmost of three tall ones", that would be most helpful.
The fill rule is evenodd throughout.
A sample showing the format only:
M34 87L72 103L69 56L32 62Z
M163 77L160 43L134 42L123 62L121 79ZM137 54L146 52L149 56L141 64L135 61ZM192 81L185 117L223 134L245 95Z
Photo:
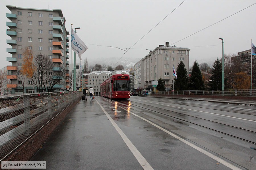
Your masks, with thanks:
M210 90L222 90L222 63L217 58L212 66L209 87Z

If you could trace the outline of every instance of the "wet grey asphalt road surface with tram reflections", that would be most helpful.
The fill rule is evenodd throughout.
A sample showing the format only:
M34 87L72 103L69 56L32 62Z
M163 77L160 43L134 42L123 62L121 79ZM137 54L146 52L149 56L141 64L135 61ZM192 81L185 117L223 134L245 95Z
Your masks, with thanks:
M153 108L180 119L154 112ZM243 114L245 112L248 114ZM243 128L255 130L256 123L248 121L256 121L255 112L255 107L202 101L149 99L139 96L132 96L125 101L111 101L96 96L93 101L80 101L31 161L47 161L47 169L231 169L232 166L253 169L256 167L256 150L251 149L256 148L254 144L185 120L237 133L236 129L209 123L207 120L239 124ZM153 124L164 129L159 129ZM121 137L115 126L120 128L134 148L127 145L129 141ZM213 156L219 156L224 163L203 154L163 130L199 146ZM256 139L252 132L243 133L246 134L241 135L242 137L250 134L251 140ZM249 162L250 157L252 158Z

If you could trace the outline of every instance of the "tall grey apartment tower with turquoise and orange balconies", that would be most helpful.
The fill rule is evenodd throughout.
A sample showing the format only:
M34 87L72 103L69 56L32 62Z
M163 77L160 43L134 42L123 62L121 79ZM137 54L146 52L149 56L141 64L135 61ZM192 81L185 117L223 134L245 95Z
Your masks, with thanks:
M7 84L7 88L12 93L20 91L24 86L25 93L43 92L45 89L35 88L44 83L51 87L51 91L63 91L69 88L67 84L67 76L69 76L69 32L65 27L65 18L60 9L33 9L19 8L6 5L11 11L6 16L11 22L6 22L7 35L11 39L7 39L7 52L11 54L7 56L7 61L11 62L11 66L7 67L7 79L11 80L11 84ZM31 50L32 55L42 54L48 56L53 62L52 70L44 73L45 80L20 78L19 71L22 69L24 61L22 55L24 49ZM35 57L34 57L35 58ZM60 73L61 72L61 73ZM38 77L43 77L42 73L38 73ZM53 85L54 84L54 85ZM38 90L36 90L38 89ZM47 88L46 91L49 89Z

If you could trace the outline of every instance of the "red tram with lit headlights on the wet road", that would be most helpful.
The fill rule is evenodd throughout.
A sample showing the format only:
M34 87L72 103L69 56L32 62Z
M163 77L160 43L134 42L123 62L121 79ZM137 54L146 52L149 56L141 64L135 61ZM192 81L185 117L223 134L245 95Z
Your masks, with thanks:
M130 76L116 74L100 84L100 95L110 99L130 98Z

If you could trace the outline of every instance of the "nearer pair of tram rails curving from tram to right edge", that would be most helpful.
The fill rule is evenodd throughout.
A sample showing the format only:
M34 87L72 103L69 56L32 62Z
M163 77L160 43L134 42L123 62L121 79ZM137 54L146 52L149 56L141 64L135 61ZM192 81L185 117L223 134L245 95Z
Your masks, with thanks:
M125 102L125 101L119 101L120 103L123 103L125 105L127 105L128 103ZM209 121L209 122L213 122L213 123L217 123L217 124L221 124L221 125L224 125L224 126L228 126L228 127L231 127L231 128L236 128L236 129L239 129L239 130L244 130L244 131L248 131L250 133L256 133L256 131L253 131L253 130L250 130L250 129L245 129L245 128L241 128L241 127L237 127L237 126L232 126L232 125L229 125L229 124L224 124L224 123L220 123L220 122L216 122L216 121L213 121L213 120L207 120L207 119L204 119L204 118L200 118L200 117L197 117L197 116L192 116L192 115L189 115L189 114L185 114L185 113L180 113L180 112L175 112L175 111L171 111L171 110L168 110L168 109L163 109L163 108L152 108L151 105L146 105L146 104L143 104L144 106L147 106L147 107L150 107L151 109L147 108L147 107L143 107L141 105L136 105L135 103L139 103L139 102L135 102L135 101L132 101L133 104L132 106L136 106L136 107L139 107L140 109L145 109L145 110L148 110L148 111L151 111L151 112L156 112L158 114L162 114L162 115L165 115L165 116L168 116L168 117L172 117L172 118L175 118L177 120L181 120L183 122L187 122L187 123L191 123L191 124L194 124L194 125L197 125L197 126L200 126L200 127L203 127L203 128L206 128L206 129L210 129L212 131L216 131L218 133L222 133L224 135L228 135L228 136L231 136L231 137L234 137L236 139L240 139L242 141L246 141L246 142L249 142L249 143L252 143L254 145L256 145L256 142L255 141L250 141L250 140L247 140L247 139L243 139L241 137L238 137L238 136L235 136L235 135L232 135L232 134L229 134L229 133L226 133L226 132L223 132L223 131L220 131L220 130L217 130L217 129L213 129L213 128L210 128L210 127L207 127L207 126L203 126L203 125L200 125L198 123L195 123L195 122L192 122L192 121L189 121L189 120L185 120L185 119L181 119L181 118L178 118L176 116L173 116L173 115L169 115L169 114L165 114L165 113L162 113L159 111L159 109L161 110L164 110L164 111L169 111L169 112L173 112L173 113L177 113L177 114L183 114L183 115L186 115L186 116L190 116L190 117L194 117L194 118L198 118L198 119L201 119L201 120L205 120L205 121Z

